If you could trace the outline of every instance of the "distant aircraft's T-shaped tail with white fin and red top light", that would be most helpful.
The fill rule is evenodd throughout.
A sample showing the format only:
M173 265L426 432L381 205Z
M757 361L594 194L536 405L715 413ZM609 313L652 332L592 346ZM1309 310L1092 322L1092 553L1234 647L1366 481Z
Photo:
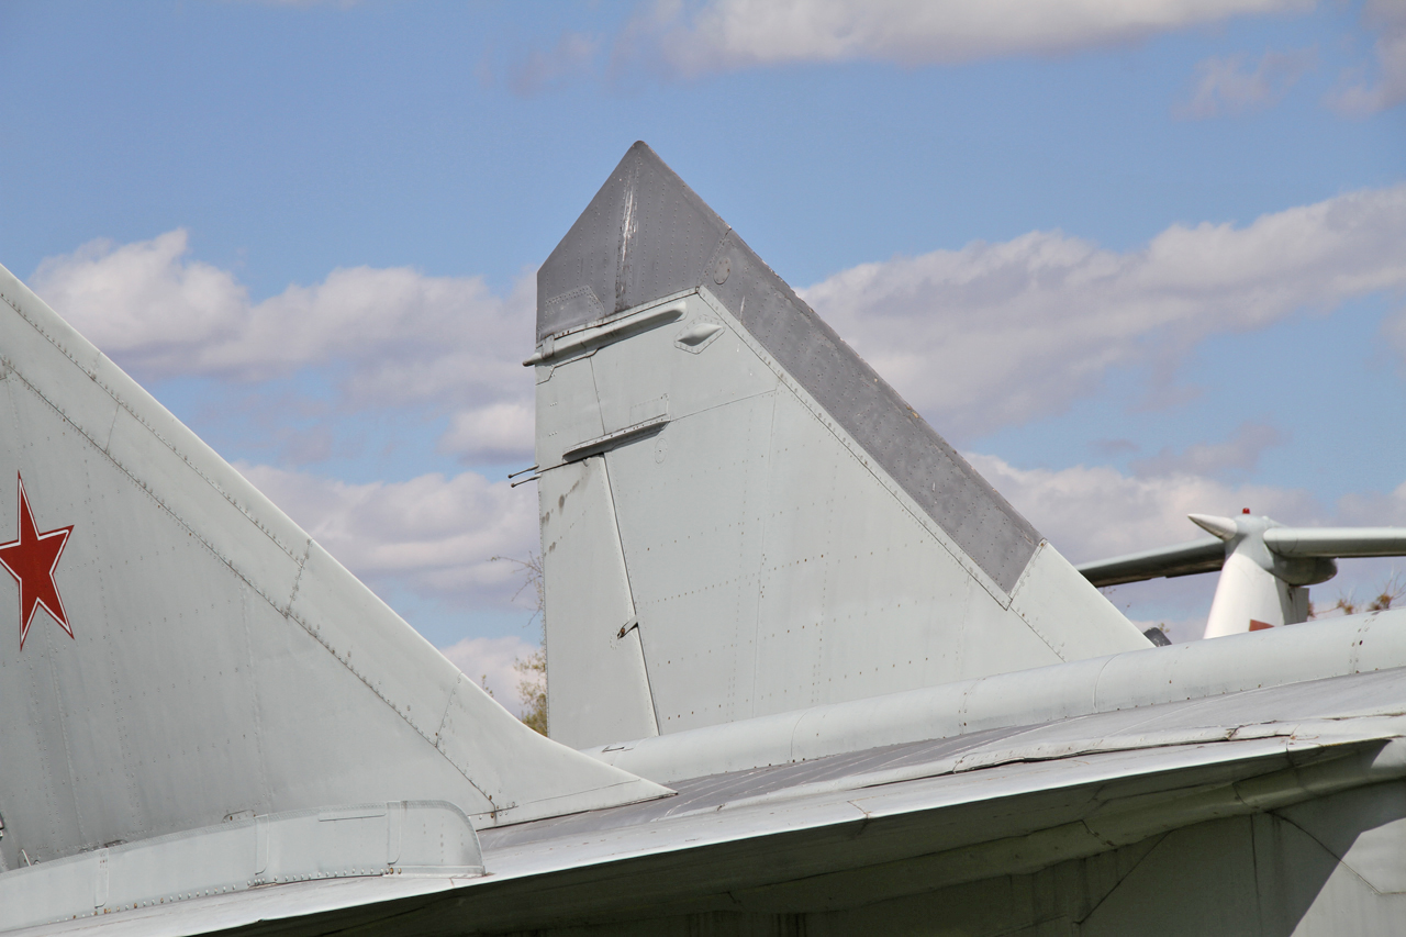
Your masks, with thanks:
M1225 637L1309 620L1309 587L1337 575L1337 560L1406 556L1406 528L1286 528L1249 508L1239 518L1188 516L1213 536L1081 563L1078 571L1102 588L1219 570L1202 637Z

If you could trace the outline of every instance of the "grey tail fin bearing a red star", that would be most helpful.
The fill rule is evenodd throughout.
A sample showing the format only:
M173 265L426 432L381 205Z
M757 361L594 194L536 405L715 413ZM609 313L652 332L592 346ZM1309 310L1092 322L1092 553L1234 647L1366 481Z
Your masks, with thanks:
M245 813L662 791L513 719L3 267L0 300L0 869Z

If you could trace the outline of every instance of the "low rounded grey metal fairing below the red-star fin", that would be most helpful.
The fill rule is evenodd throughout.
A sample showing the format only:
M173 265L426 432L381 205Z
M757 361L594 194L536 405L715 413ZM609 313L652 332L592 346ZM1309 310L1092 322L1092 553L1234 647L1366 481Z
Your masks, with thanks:
M484 874L458 808L401 801L249 816L18 868L0 875L0 930L260 885L405 874Z

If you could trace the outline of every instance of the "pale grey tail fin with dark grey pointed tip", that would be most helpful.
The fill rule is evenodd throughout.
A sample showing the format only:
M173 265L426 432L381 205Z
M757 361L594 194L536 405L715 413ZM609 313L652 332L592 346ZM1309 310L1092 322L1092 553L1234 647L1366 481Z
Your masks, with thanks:
M1149 646L644 144L537 340L555 739Z

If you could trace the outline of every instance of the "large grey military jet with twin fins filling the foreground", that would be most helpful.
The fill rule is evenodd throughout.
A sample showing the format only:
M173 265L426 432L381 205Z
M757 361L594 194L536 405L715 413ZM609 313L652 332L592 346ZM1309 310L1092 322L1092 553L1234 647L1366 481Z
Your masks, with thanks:
M0 273L0 930L1399 933L1406 615L1152 646L644 144L537 295L551 739Z

